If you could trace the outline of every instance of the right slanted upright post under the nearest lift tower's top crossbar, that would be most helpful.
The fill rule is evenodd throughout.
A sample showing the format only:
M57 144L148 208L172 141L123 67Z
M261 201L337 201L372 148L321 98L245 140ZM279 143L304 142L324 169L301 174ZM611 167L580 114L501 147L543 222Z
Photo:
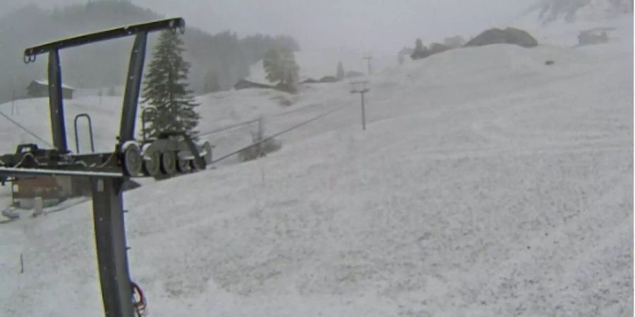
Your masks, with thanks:
M121 125L119 125L119 147L124 142L135 138L135 121L137 118L137 104L143 76L143 62L147 46L147 32L139 33L135 37L135 44L130 54L128 77L126 78L126 92L123 94L123 108L121 108Z

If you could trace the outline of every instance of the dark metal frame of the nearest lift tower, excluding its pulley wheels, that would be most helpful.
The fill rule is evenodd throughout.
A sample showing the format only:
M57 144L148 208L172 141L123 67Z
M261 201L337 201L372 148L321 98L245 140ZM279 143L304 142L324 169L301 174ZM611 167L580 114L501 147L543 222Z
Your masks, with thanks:
M135 116L145 61L147 34L166 29L171 29L172 32L180 30L183 33L185 21L182 18L171 18L117 27L25 49L25 63L35 61L37 55L49 54L49 110L53 146L56 149L44 150L38 149L35 144L23 144L18 146L15 154L0 156L0 182L3 184L9 179L37 175L70 175L90 178L97 265L99 266L99 280L102 286L106 317L133 317L135 314L133 283L128 271L128 247L126 246L126 229L123 220L125 211L123 211L121 195L123 183L126 182L128 176L123 173L119 158L123 153L123 144L134 139ZM116 151L107 154L69 154L68 144L66 144L59 50L133 35L135 42L128 66L126 92L121 110L119 143L116 144ZM75 118L75 144L77 146L78 117ZM94 151L92 123L90 123L90 117L87 118L91 132L91 147ZM188 146L193 149L191 140L189 140ZM23 151L25 147L29 151ZM194 153L196 154L198 151L194 151ZM196 159L200 160L200 157L197 156ZM92 167L88 167L87 163L88 166Z

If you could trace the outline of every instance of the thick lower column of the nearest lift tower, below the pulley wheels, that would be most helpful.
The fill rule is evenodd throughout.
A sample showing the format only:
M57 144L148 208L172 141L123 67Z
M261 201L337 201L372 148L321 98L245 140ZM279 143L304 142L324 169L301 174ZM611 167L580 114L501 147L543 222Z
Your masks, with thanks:
M134 317L121 189L123 178L91 178L104 316Z

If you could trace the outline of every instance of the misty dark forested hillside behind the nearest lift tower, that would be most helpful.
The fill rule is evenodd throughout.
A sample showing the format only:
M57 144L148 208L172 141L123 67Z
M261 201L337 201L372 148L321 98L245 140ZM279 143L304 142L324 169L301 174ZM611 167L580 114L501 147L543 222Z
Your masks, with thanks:
M95 32L119 25L143 23L164 18L130 1L89 1L53 9L35 5L18 8L0 17L0 102L23 97L31 80L46 77L46 56L34 64L23 64L23 50L29 46L63 37ZM157 34L149 37L147 58L151 57ZM203 92L205 77L217 77L221 89L229 89L248 75L250 64L264 56L274 43L295 51L297 42L286 36L253 35L238 38L226 31L216 35L188 26L183 35L185 58L191 69L191 89ZM121 86L125 80L133 39L81 46L61 51L63 80L78 88Z

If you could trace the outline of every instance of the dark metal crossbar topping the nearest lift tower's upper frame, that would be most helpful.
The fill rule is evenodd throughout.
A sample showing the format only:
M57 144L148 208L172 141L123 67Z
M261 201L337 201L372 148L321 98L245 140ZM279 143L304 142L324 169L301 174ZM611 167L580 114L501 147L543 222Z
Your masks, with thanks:
M38 46L33 46L24 50L25 61L28 61L27 57L35 59L35 56L48 53L49 51L55 51L59 49L66 49L68 47L80 46L84 44L90 44L95 42L106 41L108 39L117 39L119 37L128 37L136 35L142 32L153 32L159 30L165 30L171 28L173 30L179 29L181 32L185 29L185 20L183 18L169 18L165 20L157 20L149 23L141 23L135 25L128 25L123 27L115 27L114 29L105 30L101 32L90 33L87 35L79 35L68 39L62 39L56 42L49 42Z

